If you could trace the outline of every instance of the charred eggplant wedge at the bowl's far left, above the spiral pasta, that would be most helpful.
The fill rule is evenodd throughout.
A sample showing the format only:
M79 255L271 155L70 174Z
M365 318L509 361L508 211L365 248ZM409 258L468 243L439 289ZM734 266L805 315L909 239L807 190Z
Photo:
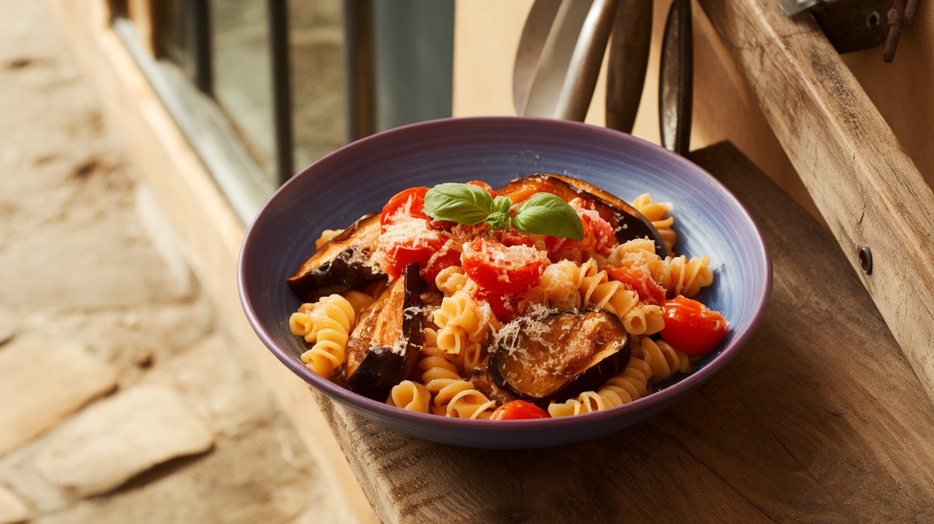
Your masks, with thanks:
M343 233L321 246L287 280L303 302L357 290L383 277L373 262L379 240L379 213L364 215Z

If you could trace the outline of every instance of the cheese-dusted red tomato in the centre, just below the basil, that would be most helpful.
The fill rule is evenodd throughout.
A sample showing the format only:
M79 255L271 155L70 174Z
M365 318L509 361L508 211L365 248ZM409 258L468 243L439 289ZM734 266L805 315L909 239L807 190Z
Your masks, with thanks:
M545 251L481 236L464 245L460 263L485 294L508 295L538 284L549 262Z

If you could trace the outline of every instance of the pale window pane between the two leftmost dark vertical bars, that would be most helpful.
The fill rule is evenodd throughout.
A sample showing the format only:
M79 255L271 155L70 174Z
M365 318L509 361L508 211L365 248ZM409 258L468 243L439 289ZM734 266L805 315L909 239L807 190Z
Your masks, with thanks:
M210 0L214 97L276 180L272 61L265 0Z

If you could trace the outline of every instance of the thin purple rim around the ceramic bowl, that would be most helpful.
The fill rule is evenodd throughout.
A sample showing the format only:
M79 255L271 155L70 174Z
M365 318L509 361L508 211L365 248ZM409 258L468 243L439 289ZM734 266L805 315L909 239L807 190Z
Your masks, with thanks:
M755 237L757 242L755 246L757 247L757 257L764 261L764 264L761 268L761 274L757 276L757 281L762 282L762 287L760 290L757 290L757 296L754 297L757 300L756 309L752 313L752 321L748 329L743 333L739 333L738 336L733 337L726 347L714 357L713 360L707 362L707 364L694 373L686 375L682 380L677 381L671 386L653 392L652 394L646 395L642 398L639 398L635 401L630 402L629 404L623 404L619 406L610 407L604 410L584 413L576 415L573 417L559 417L559 418L540 418L532 420L485 420L485 419L468 419L468 418L449 418L449 417L440 417L437 415L427 414L427 413L418 413L415 411L405 410L399 407L391 406L386 403L377 402L375 400L363 397L349 389L345 389L337 384L334 384L332 381L321 377L315 374L311 369L304 366L304 363L299 359L296 359L291 356L290 352L284 347L280 347L276 342L276 337L272 335L263 325L258 315L254 311L252 306L252 297L249 296L247 290L247 276L246 276L246 263L250 253L248 252L248 247L250 245L249 240L252 238L255 232L258 231L262 225L262 220L267 214L267 210L276 205L277 197L286 192L290 191L291 186L300 183L300 177L310 176L308 173L312 173L315 170L321 168L321 166L326 166L328 163L333 163L336 160L339 160L342 156L351 154L352 151L356 149L366 148L372 144L377 144L383 140L390 139L396 135L405 135L425 128L436 128L436 127L446 127L446 126L458 126L458 125L500 125L504 123L515 123L517 120L532 122L536 125L543 126L552 126L555 128L565 128L568 130L573 130L577 132L583 132L588 134L595 134L602 136L611 140L621 140L623 142L630 142L631 145L634 145L636 148L648 149L653 154L660 154L667 157L673 163L680 164L681 167L699 172L701 177L708 177L711 181L714 182L715 186L719 187L722 191L725 191L729 194L729 197L732 201L739 205L739 208L743 211L744 218L749 222L753 231L755 232ZM743 203L736 198L736 195L732 191L729 191L722 182L720 182L716 177L708 173L706 170L701 168L701 166L687 160L685 157L677 155L668 149L663 149L656 144L645 141L642 138L618 132L613 129L608 129L605 127L595 126L583 122L571 121L571 120L555 120L555 119L546 119L538 117L509 117L509 116L481 116L481 117L454 117L454 118L445 118L437 120L425 120L416 123L406 124L403 126L395 127L386 131L376 133L374 135L369 135L354 142L350 142L345 146L342 146L339 149L335 149L331 153L321 157L315 163L311 163L306 166L304 169L299 171L294 177L291 177L286 183L284 183L278 190L274 192L272 196L266 201L259 213L250 223L247 233L244 236L243 243L240 249L240 255L237 261L237 288L238 294L240 296L240 302L243 306L244 312L247 316L247 319L252 326L253 330L257 333L259 338L262 340L262 343L273 352L276 358L279 361L282 361L294 374L299 375L306 383L318 389L322 393L328 395L333 400L346 404L348 407L357 408L358 411L369 412L377 415L379 418L391 418L391 419L402 419L412 423L417 423L418 425L428 424L429 426L434 427L435 429L444 428L446 430L450 429L470 429L474 431L488 431L490 433L497 432L516 432L524 431L526 429L535 429L535 430L548 430L548 429L557 429L566 426L573 426L579 424L599 424L602 421L615 419L615 418L624 418L628 415L633 415L639 412L652 412L651 410L655 407L658 407L659 404L667 404L672 402L672 399L678 399L682 395L686 394L692 389L698 388L720 371L730 360L732 360L739 349L745 345L748 339L757 331L757 327L762 321L762 318L765 313L765 308L769 302L769 297L771 295L771 280L772 280L772 267L771 267L771 256L769 253L769 247L765 242L764 235L759 229L755 220L752 219L751 214ZM283 284L284 285L284 284Z

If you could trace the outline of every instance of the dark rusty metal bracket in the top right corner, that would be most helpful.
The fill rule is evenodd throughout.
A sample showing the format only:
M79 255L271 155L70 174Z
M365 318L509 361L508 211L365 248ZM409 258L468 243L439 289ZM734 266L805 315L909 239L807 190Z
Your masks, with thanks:
M843 54L884 44L883 59L892 62L899 37L911 27L918 0L778 0L788 16L811 11L828 40Z

